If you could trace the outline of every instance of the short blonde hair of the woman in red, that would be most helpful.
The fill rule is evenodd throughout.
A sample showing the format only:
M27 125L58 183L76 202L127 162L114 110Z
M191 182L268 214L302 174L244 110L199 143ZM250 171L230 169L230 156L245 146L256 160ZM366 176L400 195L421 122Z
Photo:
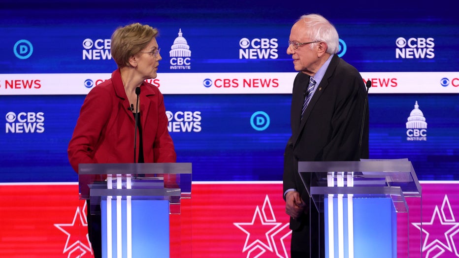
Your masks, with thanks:
M157 29L140 23L117 28L111 37L110 52L113 60L118 67L132 67L129 64L131 56L144 49L157 35Z

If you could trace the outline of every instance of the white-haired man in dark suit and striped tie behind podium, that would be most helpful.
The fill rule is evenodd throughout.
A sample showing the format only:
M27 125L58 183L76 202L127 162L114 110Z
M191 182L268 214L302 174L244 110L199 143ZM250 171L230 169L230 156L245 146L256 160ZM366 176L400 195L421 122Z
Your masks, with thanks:
M293 85L290 137L284 153L284 198L291 217L291 257L325 257L324 215L298 174L298 161L368 158L366 91L359 71L340 59L338 33L327 19L303 15L292 27L287 53L298 74ZM308 183L308 182L306 182Z

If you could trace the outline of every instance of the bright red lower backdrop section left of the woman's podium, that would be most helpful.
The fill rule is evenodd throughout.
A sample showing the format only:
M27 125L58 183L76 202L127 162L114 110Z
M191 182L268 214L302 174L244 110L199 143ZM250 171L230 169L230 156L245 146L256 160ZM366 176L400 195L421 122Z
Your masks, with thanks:
M0 185L0 204L0 257L62 258L80 253L84 201L78 199L77 185ZM81 239L89 246L85 237Z

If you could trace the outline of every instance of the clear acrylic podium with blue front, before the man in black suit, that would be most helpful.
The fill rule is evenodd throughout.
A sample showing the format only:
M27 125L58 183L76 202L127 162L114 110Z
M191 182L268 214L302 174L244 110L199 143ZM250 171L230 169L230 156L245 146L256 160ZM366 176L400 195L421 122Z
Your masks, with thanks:
M303 161L298 172L316 208L324 212L326 258L409 257L405 197L419 197L421 203L410 161ZM408 217L407 225L399 227L403 232L397 232L397 213ZM397 235L408 243L397 245Z

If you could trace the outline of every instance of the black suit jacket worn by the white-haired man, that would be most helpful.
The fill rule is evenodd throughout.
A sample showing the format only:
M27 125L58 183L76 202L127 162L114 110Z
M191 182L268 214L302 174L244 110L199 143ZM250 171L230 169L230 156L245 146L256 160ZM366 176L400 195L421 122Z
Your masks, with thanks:
M301 120L309 75L299 72L294 81L290 137L284 153L284 192L296 189L308 203L308 193L298 175L298 161L358 161L368 158L368 116L362 148L359 139L366 88L359 71L334 55L317 85ZM368 114L368 109L366 111ZM301 221L290 221L295 230Z

